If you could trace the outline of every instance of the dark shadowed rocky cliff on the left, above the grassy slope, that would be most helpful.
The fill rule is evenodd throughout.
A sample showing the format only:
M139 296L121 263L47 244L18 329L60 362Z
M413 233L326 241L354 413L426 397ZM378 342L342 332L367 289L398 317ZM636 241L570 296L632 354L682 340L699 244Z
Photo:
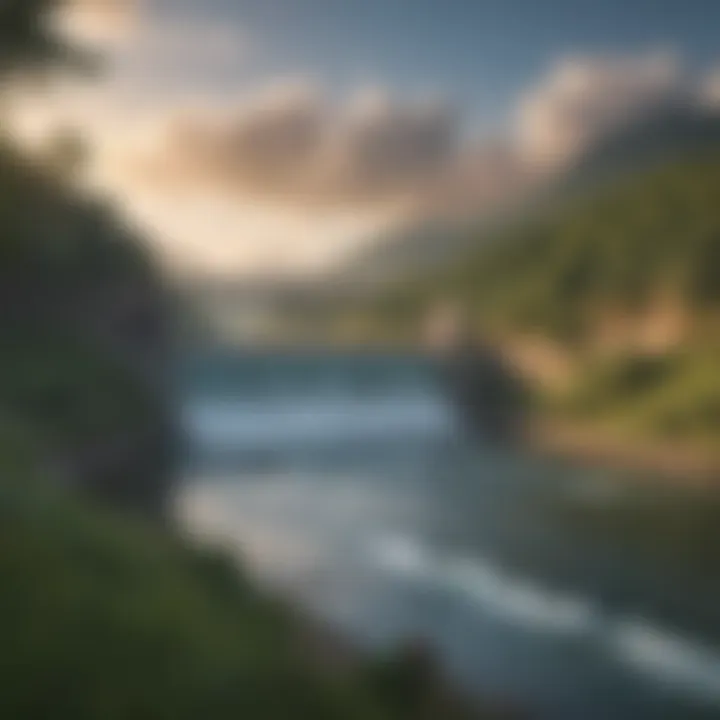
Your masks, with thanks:
M172 301L113 212L0 147L0 408L36 460L95 498L158 516L177 450Z

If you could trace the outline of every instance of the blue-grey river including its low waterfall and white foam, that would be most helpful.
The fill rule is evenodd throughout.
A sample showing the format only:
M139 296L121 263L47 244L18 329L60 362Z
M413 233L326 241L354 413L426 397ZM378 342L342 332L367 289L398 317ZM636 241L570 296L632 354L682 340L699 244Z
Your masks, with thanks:
M623 502L607 473L464 440L417 358L205 357L187 388L185 521L358 643L427 638L540 718L720 717L720 646L669 622L663 569L547 512Z

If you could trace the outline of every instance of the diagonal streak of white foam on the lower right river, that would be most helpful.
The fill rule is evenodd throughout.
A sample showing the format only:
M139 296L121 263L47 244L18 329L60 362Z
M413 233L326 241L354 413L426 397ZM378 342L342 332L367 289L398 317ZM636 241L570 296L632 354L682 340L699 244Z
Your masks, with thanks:
M720 652L642 618L609 616L590 599L554 591L480 558L433 553L410 537L381 538L378 567L455 593L514 626L592 643L631 671L720 706Z

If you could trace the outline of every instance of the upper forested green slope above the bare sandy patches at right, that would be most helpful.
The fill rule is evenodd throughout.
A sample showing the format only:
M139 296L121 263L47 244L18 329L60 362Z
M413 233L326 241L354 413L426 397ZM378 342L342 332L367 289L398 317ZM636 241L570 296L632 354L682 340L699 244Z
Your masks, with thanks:
M707 318L720 308L720 156L615 183L480 240L374 310L409 320L454 298L484 324L567 342L591 336L605 312L638 314L659 300Z

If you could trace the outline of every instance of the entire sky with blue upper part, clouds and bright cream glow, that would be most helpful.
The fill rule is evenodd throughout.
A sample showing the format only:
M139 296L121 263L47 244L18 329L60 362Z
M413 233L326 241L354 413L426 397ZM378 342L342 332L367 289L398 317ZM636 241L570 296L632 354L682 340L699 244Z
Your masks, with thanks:
M717 0L70 0L105 59L16 102L182 272L322 271L511 203L594 142L720 106Z

